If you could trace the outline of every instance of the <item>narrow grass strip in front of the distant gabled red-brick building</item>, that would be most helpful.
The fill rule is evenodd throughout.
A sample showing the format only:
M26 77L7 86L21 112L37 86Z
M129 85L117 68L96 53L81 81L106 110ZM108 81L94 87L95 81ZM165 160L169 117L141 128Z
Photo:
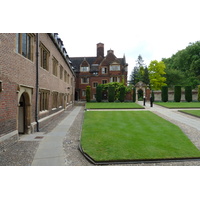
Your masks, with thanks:
M134 108L143 108L137 103L121 103L121 102L96 102L96 103L86 103L87 109L134 109Z

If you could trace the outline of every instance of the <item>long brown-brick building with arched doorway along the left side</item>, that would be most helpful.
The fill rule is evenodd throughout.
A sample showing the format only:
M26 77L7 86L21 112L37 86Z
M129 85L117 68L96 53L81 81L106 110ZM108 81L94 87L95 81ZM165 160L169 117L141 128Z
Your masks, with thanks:
M0 151L74 102L75 73L58 34L0 34Z

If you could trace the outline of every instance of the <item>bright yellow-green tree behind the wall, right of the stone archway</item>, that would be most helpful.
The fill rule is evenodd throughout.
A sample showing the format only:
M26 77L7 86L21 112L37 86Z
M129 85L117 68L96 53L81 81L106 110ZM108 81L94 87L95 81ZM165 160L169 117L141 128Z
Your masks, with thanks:
M162 86L167 85L165 83L166 78L163 76L166 74L164 70L164 62L158 62L157 60L151 61L148 67L151 89L160 90Z

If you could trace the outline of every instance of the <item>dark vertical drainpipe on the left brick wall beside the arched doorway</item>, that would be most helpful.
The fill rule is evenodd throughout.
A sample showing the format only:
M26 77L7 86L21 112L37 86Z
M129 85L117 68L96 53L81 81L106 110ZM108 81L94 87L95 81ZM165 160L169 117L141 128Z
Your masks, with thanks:
M38 122L38 97L39 97L39 34L36 33L36 99L35 99L35 121L36 131L39 132Z

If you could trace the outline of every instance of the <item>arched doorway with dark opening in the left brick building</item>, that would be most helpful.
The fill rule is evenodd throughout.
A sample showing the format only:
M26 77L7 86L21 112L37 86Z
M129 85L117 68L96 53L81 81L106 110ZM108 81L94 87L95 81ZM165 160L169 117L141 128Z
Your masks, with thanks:
M26 92L22 93L19 99L18 132L19 134L30 133L30 98Z

